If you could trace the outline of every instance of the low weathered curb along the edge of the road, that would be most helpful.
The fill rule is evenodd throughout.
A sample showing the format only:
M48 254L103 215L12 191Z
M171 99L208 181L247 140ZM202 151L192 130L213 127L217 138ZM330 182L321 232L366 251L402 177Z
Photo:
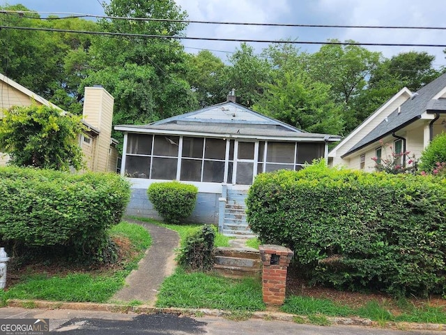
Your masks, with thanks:
M214 316L214 317L228 317L231 315L230 311L222 311L220 309L208 308L157 308L148 305L129 306L125 304L98 304L92 302L63 302L63 301L45 301L45 300L22 300L9 299L6 301L8 307L20 308L45 308L45 309L72 309L76 311L96 311L96 312L111 312L111 313L146 313L146 314L177 314L198 317ZM303 323L309 322L307 316L293 315L289 313L275 312L275 311L261 311L253 312L250 318L270 320L270 321L286 321L295 322L295 318L303 320ZM414 323L414 322L386 322L384 326L379 325L378 322L364 318L341 318L341 317L327 317L327 320L332 325L339 326L362 326L362 327L382 327L399 330L436 330L442 331L446 329L446 325L436 323Z

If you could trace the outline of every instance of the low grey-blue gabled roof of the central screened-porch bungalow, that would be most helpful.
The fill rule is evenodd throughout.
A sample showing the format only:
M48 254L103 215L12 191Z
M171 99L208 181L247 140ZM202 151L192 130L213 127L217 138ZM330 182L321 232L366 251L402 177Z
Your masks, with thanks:
M232 135L233 137L299 137L313 140L339 140L339 136L336 135L307 133L232 101L169 117L152 124L119 125L115 126L115 129L137 133L161 131L178 134Z

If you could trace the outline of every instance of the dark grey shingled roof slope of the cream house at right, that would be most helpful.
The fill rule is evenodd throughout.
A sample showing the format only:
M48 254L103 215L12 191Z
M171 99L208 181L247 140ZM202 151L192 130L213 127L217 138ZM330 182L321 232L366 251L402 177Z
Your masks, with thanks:
M408 126L408 124L420 119L424 112L446 112L445 99L439 98L438 100L433 100L445 88L446 73L440 75L436 80L429 82L429 84L426 84L426 86L413 94L410 99L397 107L396 110L367 135L362 137L362 140L357 142L342 157L353 154L353 152L367 147L367 145L377 142L381 138L390 135L395 131L399 131Z

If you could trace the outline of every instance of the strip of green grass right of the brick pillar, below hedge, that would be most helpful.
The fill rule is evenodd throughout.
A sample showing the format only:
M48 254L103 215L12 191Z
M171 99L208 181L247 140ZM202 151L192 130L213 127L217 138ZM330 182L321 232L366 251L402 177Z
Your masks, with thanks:
M308 319L314 323L314 315L325 316L359 316L369 318L378 322L378 325L385 325L386 322L423 322L423 323L446 323L446 310L442 307L421 306L413 304L397 304L400 315L394 315L389 306L378 304L377 301L369 301L360 308L351 308L341 304L334 304L330 299L316 299L312 297L292 296L285 300L282 311L295 315L307 315ZM315 323L319 324L319 323Z

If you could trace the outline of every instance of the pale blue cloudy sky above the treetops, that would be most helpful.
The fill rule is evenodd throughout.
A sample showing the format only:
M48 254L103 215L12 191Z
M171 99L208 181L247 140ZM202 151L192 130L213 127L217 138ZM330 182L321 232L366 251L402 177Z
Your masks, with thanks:
M67 12L104 15L103 0L0 0L0 5L22 3L38 12ZM109 2L109 0L105 1ZM440 0L176 0L188 20L217 22L255 22L279 24L332 24L347 26L446 27L445 6ZM41 14L45 16L45 14ZM62 15L59 15L62 16ZM186 36L240 38L249 40L320 41L337 38L360 43L410 43L446 45L444 30L340 29L314 27L259 27L218 24L189 24ZM268 43L248 43L256 53ZM197 53L211 50L226 61L240 42L183 40L185 50ZM302 51L315 52L321 45L300 45ZM444 47L369 47L390 58L410 50L436 56L433 65L446 66Z

